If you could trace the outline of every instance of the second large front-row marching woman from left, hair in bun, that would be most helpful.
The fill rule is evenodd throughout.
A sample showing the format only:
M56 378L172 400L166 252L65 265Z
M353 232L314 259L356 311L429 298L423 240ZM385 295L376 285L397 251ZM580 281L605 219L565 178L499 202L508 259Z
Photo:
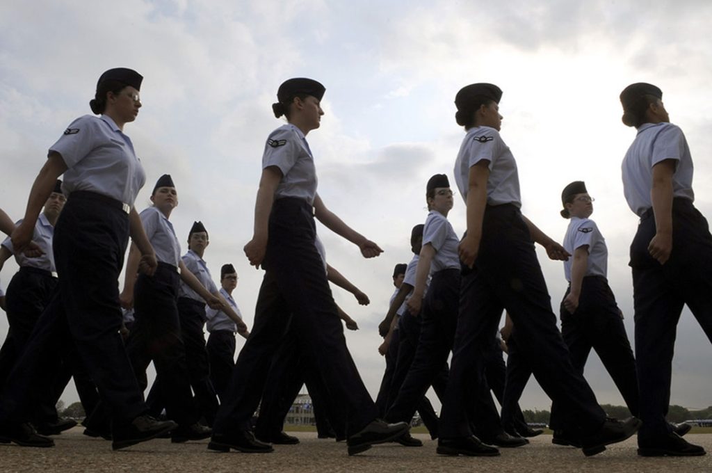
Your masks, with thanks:
M359 246L366 257L377 256L377 244L348 227L330 212L316 192L314 159L305 136L319 128L324 114L324 87L315 80L295 78L283 83L277 118L288 124L269 136L255 205L255 227L245 253L266 273L255 309L253 330L242 348L209 448L226 452L271 452L255 440L250 419L263 392L271 353L281 341L290 314L298 336L310 349L310 359L324 382L347 411L349 454L363 452L408 431L408 425L377 421L376 406L352 368L337 309L315 246L314 217L333 232Z

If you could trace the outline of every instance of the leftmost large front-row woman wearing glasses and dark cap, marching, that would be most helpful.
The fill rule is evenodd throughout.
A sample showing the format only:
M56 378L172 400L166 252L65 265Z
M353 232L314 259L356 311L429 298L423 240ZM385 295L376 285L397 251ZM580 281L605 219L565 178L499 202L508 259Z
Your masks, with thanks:
M142 253L141 269L152 274L156 257L133 208L145 174L133 144L123 133L141 108L142 76L110 69L97 83L91 109L100 117L75 120L53 145L36 178L23 222L12 234L16 251L31 240L42 204L64 173L67 203L54 230L59 291L33 331L0 402L2 435L20 445L51 446L23 426L33 397L41 391L42 361L63 338L75 342L112 415L114 449L172 430L174 422L144 415L145 404L119 334L121 310L116 281L128 237Z

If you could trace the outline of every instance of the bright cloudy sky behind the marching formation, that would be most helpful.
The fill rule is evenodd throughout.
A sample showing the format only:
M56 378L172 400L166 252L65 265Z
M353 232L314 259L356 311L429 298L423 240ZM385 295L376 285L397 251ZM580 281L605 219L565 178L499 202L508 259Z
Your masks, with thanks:
M624 201L620 162L635 132L620 121L618 94L656 83L671 120L686 132L696 164L696 205L712 216L712 38L706 1L224 1L4 2L0 6L0 207L19 218L47 148L90 113L98 76L130 67L145 76L143 108L125 128L148 175L137 199L172 175L180 239L194 220L211 237L206 261L219 276L231 262L236 300L251 326L262 272L242 247L252 232L264 141L282 124L271 103L283 80L307 76L327 91L325 116L308 140L325 204L385 250L365 260L320 227L330 264L371 298L362 308L335 289L361 330L347 333L375 396L384 368L376 326L393 291L391 271L407 262L409 233L424 222L425 183L451 178L464 131L454 97L473 82L504 91L502 136L518 160L523 212L561 239L562 187L585 180L609 246L609 281L632 338L627 266L637 218ZM450 220L465 229L456 197ZM565 291L562 265L539 251L554 306ZM14 263L6 264L6 288ZM0 321L0 336L6 320ZM710 343L685 311L678 328L671 402L712 405ZM241 346L241 345L239 345ZM586 375L600 402L622 398L592 355ZM68 390L65 400L76 395ZM548 408L535 381L521 404Z

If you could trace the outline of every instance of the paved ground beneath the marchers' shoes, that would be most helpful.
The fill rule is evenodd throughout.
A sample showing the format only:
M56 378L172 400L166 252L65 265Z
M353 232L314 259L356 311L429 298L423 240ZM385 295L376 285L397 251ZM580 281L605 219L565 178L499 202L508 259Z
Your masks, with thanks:
M209 452L207 441L173 445L152 440L113 452L109 442L82 435L75 427L55 438L52 449L0 445L0 472L712 472L712 454L693 458L641 458L635 437L606 452L586 458L580 450L551 445L550 435L535 437L531 445L503 449L496 458L441 457L436 443L416 434L424 447L379 445L348 457L346 447L333 440L317 440L313 432L291 432L302 443L277 446L271 454ZM712 452L712 434L689 435L693 443Z

